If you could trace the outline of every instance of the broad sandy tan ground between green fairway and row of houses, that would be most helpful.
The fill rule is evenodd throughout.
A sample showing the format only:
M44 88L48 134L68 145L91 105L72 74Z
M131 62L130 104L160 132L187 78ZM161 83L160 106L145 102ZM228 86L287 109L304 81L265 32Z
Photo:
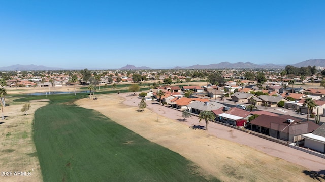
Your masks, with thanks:
M179 111L151 101L144 112L137 112L140 99L129 94L98 95L98 100L82 99L76 104L98 110L222 181L325 180L318 173L325 169L325 159L216 123L210 123L208 131L193 130L189 126L205 123L196 117L183 122Z

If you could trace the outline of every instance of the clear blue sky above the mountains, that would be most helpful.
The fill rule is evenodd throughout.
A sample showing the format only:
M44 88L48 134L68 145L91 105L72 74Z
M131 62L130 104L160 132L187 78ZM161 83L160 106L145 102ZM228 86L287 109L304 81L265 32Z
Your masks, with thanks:
M0 0L0 67L325 59L325 1Z

